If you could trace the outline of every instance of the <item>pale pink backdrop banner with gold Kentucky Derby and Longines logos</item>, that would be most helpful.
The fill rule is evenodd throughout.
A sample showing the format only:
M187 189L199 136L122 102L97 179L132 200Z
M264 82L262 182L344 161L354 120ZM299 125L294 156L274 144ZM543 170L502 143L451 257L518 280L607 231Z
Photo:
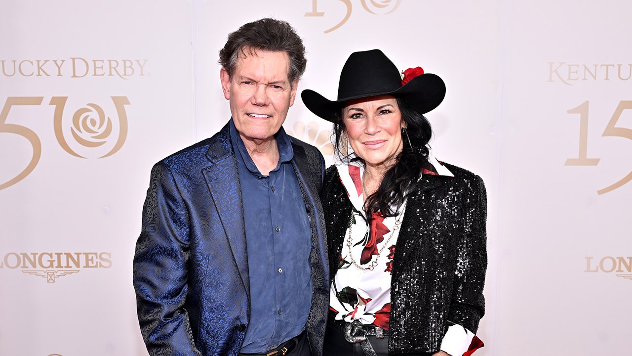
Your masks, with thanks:
M291 23L299 91L336 98L379 48L447 86L439 160L489 201L480 356L627 355L632 306L632 3L623 0L3 0L0 355L146 356L131 261L152 165L230 117L217 52ZM285 129L332 160L300 99Z

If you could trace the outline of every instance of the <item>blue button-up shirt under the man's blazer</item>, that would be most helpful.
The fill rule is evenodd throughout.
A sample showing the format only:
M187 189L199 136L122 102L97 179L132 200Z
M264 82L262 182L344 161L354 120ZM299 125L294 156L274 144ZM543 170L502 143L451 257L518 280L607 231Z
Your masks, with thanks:
M276 134L279 163L262 175L230 121L248 246L250 324L243 353L263 353L305 329L312 300L312 230L292 165L289 136Z

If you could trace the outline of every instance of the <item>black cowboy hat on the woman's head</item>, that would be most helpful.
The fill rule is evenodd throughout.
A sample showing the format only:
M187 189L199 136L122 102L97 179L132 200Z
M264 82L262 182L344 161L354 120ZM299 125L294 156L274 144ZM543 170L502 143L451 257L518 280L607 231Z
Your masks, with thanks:
M423 115L441 104L446 96L446 84L438 75L424 73L402 86L398 68L382 51L372 49L351 53L344 63L336 101L310 89L301 92L301 99L310 111L335 122L335 113L346 101L384 94L406 99Z

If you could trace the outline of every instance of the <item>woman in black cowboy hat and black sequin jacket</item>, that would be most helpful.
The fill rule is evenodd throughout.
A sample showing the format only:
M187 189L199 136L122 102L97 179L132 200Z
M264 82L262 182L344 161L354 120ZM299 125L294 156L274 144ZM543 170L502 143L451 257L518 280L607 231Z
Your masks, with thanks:
M429 154L423 114L443 100L443 80L405 73L377 49L356 52L336 101L301 93L334 123L339 158L322 193L332 274L325 355L461 356L483 346L474 333L484 313L485 187Z

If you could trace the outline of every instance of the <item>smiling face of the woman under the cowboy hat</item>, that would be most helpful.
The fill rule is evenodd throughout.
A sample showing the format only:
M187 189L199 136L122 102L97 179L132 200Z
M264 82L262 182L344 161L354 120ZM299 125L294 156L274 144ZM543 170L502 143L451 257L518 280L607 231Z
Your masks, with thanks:
M351 148L367 167L388 169L395 163L406 123L393 96L348 101L343 108L343 122Z

